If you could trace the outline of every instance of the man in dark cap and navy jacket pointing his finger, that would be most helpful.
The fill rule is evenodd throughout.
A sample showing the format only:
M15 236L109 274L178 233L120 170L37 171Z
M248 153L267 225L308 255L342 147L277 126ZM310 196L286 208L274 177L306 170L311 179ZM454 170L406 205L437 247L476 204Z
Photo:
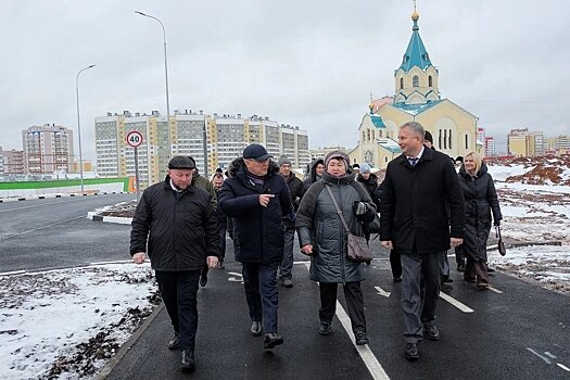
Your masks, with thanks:
M219 191L219 206L233 223L236 259L242 263L250 333L265 331L265 349L283 343L277 331L277 267L283 259L283 215L294 218L289 188L270 157L263 145L248 145Z

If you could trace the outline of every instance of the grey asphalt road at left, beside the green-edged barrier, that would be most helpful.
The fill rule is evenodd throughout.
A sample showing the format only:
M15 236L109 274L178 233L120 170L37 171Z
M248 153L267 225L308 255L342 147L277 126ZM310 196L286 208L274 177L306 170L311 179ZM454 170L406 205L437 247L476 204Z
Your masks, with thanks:
M0 203L0 273L128 259L129 225L94 223L87 213L132 194Z

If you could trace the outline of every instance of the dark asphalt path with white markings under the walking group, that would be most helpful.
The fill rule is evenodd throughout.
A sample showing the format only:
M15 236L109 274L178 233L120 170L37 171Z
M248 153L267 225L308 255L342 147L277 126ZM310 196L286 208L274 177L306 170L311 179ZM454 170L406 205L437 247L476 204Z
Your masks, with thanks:
M231 259L211 270L199 292L199 333L194 379L569 379L570 299L496 273L493 290L481 292L452 270L453 289L442 292L438 311L440 341L420 344L421 358L407 362L401 284L392 283L389 261L373 242L378 259L363 282L370 344L353 344L346 308L337 309L333 333L320 337L318 286L303 262L294 266L294 288L280 287L279 329L284 344L265 352L263 338L249 334L250 320ZM228 251L231 241L228 240ZM382 253L383 252L383 253ZM295 253L297 261L305 259ZM452 258L452 257L449 257ZM378 287L378 288L377 288ZM350 322L349 322L350 324ZM166 311L112 369L109 379L182 379L179 352L166 349L173 334Z

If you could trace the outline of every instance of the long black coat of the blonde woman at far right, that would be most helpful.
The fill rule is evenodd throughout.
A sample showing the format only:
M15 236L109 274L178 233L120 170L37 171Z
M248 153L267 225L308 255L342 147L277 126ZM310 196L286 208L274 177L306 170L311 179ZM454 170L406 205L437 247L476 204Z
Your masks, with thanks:
M495 224L503 218L493 178L483 163L476 177L465 166L459 169L465 199L465 239L463 250L473 261L486 262L486 240L491 231L491 213Z

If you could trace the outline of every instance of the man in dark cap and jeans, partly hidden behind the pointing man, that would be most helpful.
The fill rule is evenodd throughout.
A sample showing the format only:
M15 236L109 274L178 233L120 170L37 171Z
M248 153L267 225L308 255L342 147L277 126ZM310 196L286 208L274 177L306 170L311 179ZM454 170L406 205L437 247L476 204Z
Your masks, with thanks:
M301 197L303 195L303 182L296 178L295 174L291 172L291 160L286 155L279 157L277 162L279 166L279 174L283 176L289 193L291 194L291 201L293 202L294 211L299 208ZM291 219L289 215L283 217L284 225L284 245L283 245L283 261L280 265L281 283L286 288L293 288L293 244L295 240L295 221Z

